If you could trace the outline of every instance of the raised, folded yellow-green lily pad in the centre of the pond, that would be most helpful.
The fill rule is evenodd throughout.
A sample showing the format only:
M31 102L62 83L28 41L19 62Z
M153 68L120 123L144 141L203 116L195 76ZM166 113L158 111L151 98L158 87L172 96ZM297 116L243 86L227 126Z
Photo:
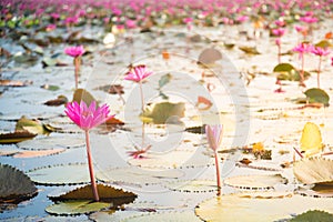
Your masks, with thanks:
M183 118L184 111L183 102L160 102L147 108L140 118L147 123L164 124L172 117Z

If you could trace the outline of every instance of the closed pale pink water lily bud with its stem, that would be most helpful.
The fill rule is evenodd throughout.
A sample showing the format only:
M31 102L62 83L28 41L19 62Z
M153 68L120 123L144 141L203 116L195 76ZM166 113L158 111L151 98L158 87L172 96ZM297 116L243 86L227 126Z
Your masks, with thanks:
M220 179L220 163L218 157L218 149L222 142L223 125L205 125L205 135L210 148L214 151L215 168L216 168L216 182L218 182L218 195L221 194L221 179Z

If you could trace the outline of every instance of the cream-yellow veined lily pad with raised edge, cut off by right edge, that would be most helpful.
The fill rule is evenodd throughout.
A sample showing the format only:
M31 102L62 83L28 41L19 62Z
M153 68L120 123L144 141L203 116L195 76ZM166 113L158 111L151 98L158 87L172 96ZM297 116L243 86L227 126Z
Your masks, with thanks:
M333 184L333 160L323 158L303 158L294 163L295 178L305 184Z

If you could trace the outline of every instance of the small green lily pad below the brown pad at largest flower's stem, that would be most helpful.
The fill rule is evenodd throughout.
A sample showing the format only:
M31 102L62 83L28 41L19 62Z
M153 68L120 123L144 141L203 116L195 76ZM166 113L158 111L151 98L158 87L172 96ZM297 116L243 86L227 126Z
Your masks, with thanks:
M93 213L110 208L110 203L93 202L88 200L63 201L46 208L53 215L80 215Z

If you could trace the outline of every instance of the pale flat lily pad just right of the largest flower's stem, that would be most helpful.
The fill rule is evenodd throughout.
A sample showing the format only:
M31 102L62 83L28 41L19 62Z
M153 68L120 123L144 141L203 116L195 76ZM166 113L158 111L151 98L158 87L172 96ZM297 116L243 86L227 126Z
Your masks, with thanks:
M175 180L183 175L180 170L153 170L139 168L105 169L97 172L103 182L123 182L130 184L157 184L165 180Z

